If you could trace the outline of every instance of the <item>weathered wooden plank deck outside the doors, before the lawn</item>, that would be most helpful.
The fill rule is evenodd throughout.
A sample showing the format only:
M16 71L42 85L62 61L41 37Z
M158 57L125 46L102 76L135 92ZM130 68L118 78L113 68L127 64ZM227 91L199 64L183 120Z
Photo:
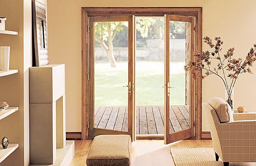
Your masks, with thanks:
M189 128L189 107L170 107L170 133ZM128 130L127 107L95 107L94 127L110 130ZM137 134L164 134L164 106L136 107Z

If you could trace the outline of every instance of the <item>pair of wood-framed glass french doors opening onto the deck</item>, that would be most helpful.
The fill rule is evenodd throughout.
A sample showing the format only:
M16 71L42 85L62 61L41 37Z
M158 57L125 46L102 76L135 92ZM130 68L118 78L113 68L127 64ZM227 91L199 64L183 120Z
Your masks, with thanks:
M89 137L104 134L129 134L132 140L135 140L135 17L119 15L88 18ZM184 71L183 66L193 60L195 18L178 15L165 15L164 18L165 93L162 95L164 95L165 110L164 140L168 144L194 136L195 80L189 72ZM176 24L177 22L179 24ZM116 26L119 28L116 29ZM179 58L182 59L179 63L183 63L183 66L178 67L181 66L184 73L175 75L177 62L173 62L175 52L172 49L177 45L172 40L172 33L182 28L185 31L185 40L182 40L185 46L180 50L185 55L183 59ZM114 38L116 31L123 34L122 40ZM126 47L126 51L122 52L122 57L115 56L119 58L118 61L115 61L113 57L114 42L115 45ZM115 49L115 52L118 52L118 48ZM126 72L120 74L119 69ZM173 81L177 79L181 81ZM173 90L175 83L180 82L184 83L185 90ZM184 102L181 104L173 102L177 97L183 98Z

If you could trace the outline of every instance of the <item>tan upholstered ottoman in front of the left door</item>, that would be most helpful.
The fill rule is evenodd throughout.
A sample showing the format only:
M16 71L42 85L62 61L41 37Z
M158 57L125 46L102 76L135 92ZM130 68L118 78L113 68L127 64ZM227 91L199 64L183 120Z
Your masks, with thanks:
M87 166L130 166L130 135L99 135L94 138Z

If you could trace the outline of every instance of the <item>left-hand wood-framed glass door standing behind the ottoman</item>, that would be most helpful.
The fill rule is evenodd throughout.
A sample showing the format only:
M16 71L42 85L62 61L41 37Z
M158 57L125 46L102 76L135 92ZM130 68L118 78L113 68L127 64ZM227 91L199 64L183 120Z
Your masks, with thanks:
M89 137L129 134L135 139L134 20L129 15L89 17ZM114 38L117 31L125 40ZM127 48L122 56L113 54L120 52L115 45Z

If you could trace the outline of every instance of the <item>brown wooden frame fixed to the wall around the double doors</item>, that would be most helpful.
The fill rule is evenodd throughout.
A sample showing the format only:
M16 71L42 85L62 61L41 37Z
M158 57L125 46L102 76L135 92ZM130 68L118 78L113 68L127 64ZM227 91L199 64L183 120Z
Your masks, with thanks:
M89 113L89 35L88 25L90 16L164 16L164 14L192 16L196 19L195 51L202 52L202 7L82 7L82 140L88 137ZM195 79L195 137L202 138L202 79ZM150 135L149 137L150 138ZM152 138L152 137L151 137Z

